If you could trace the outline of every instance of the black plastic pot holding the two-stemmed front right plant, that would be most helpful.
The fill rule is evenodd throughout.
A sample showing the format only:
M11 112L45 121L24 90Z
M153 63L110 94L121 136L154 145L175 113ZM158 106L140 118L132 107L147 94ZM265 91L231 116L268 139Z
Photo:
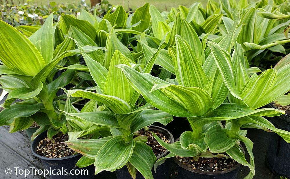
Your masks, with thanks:
M179 141L179 138L176 141ZM242 147L242 145L240 146ZM245 152L243 147L242 150ZM176 157L173 157L173 161L177 165L178 178L181 179L236 179L241 166L238 163L224 171L200 171L183 165Z

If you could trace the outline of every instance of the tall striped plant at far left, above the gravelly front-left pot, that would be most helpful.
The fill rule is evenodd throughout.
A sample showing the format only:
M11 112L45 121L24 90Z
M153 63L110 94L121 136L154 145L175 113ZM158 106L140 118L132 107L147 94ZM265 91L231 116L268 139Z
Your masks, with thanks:
M64 169L73 169L75 166L73 161L78 160L76 159L78 155L72 155L73 151L69 151L70 149L66 146L61 147L63 151L59 151L58 142L67 140L67 136L56 135L61 134L60 129L66 123L64 113L58 110L64 110L65 102L60 100L63 97L56 94L59 88L72 81L77 86L78 82L74 80L74 69L65 69L59 77L54 79L55 73L58 71L55 69L56 65L64 65L67 60L64 59L65 57L75 55L75 53L67 51L75 48L73 40L68 36L54 50L56 26L53 26L53 13L29 39L3 21L0 21L0 26L0 58L3 62L1 74L6 74L1 76L0 81L3 88L9 92L3 104L5 109L0 113L0 124L10 125L10 132L16 132L30 127L34 121L37 122L40 128L32 135L33 151L36 148L37 152L42 153L42 159L50 160L50 163L53 163L51 161L53 159L57 160L58 164L72 163L64 165L66 167ZM16 99L23 101L12 104ZM38 134L41 135L37 136ZM41 140L42 142L38 143ZM55 140L59 141L55 143ZM59 150L52 147L57 147ZM44 164L47 163L44 162ZM46 169L50 169L51 165L50 167L46 165L46 167Z

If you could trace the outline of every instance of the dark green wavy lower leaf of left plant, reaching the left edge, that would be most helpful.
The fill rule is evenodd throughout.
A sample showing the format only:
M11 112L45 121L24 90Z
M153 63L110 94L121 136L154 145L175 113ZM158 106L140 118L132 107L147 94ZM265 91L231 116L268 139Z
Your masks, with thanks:
M32 105L13 104L10 109L6 108L0 112L0 125L9 125L14 118L31 116L40 109L44 109L42 103Z

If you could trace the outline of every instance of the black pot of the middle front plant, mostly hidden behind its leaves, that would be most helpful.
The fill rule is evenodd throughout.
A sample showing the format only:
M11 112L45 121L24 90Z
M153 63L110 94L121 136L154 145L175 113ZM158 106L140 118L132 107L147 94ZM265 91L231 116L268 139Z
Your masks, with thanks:
M164 136L166 136L170 140L170 142L174 141L173 135L168 130L166 130L162 127L151 125L149 127L149 131L151 131L151 130L155 131L155 132L158 131L158 132L164 134ZM163 154L156 157L157 160L161 157L166 156L168 153L169 153L169 151L166 150ZM168 161L165 160L165 162L162 165L159 165L157 167L156 173L155 173L154 169L152 169L153 178L160 178L160 179L169 178L168 168L169 168ZM124 166L121 169L116 170L116 176L117 176L117 179L131 179L132 178L129 171L128 171L128 168L126 166ZM139 171L137 171L136 179L144 179L144 177L142 176L142 174L140 174Z

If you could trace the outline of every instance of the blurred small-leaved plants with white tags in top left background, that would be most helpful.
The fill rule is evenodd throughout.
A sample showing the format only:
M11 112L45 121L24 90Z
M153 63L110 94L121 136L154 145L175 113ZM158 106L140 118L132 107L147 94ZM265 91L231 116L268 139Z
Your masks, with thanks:
M0 0L0 20L14 27L19 25L41 25L43 23L42 19L45 19L52 12L57 12L57 14L54 14L54 21L57 22L61 14L77 16L78 12L86 10L95 16L103 17L112 8L112 5L107 0L102 1L93 8L83 0L73 3L49 2L46 5L39 5L32 0L26 2L24 0L14 1Z

